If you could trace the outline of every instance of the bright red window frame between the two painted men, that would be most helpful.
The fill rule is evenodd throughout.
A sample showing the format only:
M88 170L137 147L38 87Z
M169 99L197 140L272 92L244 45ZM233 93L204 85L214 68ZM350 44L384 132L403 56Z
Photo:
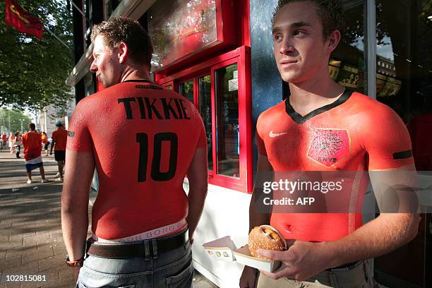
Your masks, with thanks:
M217 174L217 140L216 140L216 103L215 71L219 68L237 64L239 79L239 178ZM211 109L212 109L212 157L213 170L208 170L208 182L216 186L236 191L252 193L253 190L253 143L252 143L252 105L251 105L251 48L241 46L230 52L215 56L200 64L191 66L156 82L160 85L172 84L174 91L179 92L179 83L193 79L193 104L199 109L198 78L210 73ZM162 76L163 77L163 76Z

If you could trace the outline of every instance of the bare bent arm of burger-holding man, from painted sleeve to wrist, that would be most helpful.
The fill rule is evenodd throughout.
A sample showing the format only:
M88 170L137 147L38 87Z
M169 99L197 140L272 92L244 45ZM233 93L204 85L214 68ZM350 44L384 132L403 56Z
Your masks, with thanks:
M381 213L352 234L327 244L334 251L332 267L389 253L417 234L419 215L415 193L409 189L400 191L400 188L417 186L414 164L370 174Z

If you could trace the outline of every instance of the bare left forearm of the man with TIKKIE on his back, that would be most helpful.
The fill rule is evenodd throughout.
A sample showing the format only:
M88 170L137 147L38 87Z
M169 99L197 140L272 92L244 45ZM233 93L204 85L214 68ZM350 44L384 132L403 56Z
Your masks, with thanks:
M61 193L61 230L70 260L84 255L88 232L88 198L95 160L92 152L66 150L66 167Z

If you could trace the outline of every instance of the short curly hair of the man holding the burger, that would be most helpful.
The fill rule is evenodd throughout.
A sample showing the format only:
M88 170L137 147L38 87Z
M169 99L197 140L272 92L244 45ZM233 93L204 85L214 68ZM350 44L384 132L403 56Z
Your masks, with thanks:
M333 31L339 30L342 34L344 28L344 16L342 13L342 4L339 0L279 0L272 17L272 26L275 25L277 12L283 6L292 2L312 2L316 5L316 12L323 24L323 37L328 39Z

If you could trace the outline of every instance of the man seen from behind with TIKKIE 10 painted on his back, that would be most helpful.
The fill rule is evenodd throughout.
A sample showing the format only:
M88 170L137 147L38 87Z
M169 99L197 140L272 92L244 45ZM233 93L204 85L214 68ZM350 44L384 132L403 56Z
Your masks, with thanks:
M183 96L148 80L152 46L138 21L95 25L92 42L90 70L106 89L81 100L69 126L61 207L67 263L75 275L83 265L96 168L93 235L78 284L191 287L188 239L207 193L203 121Z

